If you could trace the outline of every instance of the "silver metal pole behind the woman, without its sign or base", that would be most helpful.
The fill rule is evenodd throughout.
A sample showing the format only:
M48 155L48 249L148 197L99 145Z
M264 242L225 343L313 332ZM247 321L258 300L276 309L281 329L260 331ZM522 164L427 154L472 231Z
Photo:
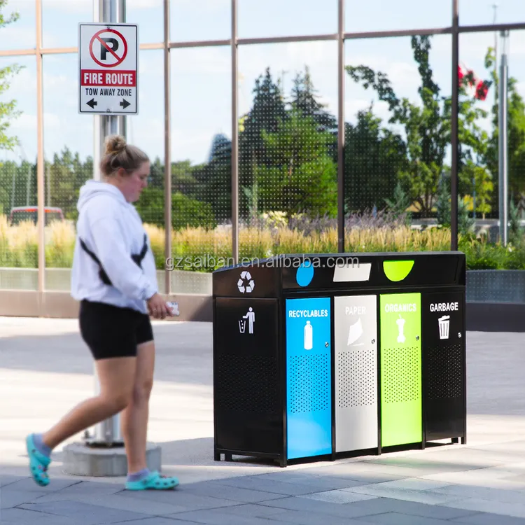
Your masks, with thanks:
M126 0L99 0L99 22L109 22L112 24L125 22L126 21ZM126 117L115 116L115 115L101 115L99 116L99 144L95 143L95 151L99 155L95 155L98 160L102 158L104 154L104 139L108 135L120 134L126 137ZM97 119L95 119L95 125ZM95 132L97 137L97 132ZM99 173L98 162L93 167L95 174ZM95 179L99 179L100 175L95 176ZM94 391L95 395L100 393L100 383L97 377L97 370L94 369ZM93 434L90 436L88 433L85 435L86 444L92 446L104 446L104 447L122 447L124 439L122 431L120 429L120 414L116 414L105 421L97 423L93 428Z

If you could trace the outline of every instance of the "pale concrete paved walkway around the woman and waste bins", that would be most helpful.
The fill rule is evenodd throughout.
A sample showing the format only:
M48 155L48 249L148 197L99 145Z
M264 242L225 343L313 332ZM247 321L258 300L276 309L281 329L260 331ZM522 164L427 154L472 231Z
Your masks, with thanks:
M285 469L213 461L211 325L154 323L148 439L162 445L169 493L123 491L123 478L27 470L24 437L92 395L76 321L0 318L0 524L525 524L524 336L468 333L468 444ZM76 436L70 442L78 442Z

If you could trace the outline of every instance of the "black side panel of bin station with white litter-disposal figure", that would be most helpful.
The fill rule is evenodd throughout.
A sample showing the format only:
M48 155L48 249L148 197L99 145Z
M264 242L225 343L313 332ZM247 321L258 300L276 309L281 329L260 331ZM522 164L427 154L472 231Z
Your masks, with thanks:
M237 453L282 453L279 302L217 297L215 308L215 446ZM242 330L248 312L253 313L251 329L248 323Z

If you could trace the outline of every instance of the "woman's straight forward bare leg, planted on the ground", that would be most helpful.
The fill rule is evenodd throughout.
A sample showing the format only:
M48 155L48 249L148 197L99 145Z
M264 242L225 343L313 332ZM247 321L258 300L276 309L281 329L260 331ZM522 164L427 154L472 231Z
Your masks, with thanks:
M121 415L121 426L127 454L127 472L134 474L147 468L149 400L155 369L155 342L137 347L137 371L131 400Z

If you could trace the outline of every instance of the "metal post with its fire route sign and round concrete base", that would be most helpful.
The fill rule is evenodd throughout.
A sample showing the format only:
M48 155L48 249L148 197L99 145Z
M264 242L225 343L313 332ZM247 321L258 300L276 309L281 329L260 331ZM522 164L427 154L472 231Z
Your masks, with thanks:
M138 113L139 38L137 25L125 23L125 0L94 1L93 20L78 26L78 111L94 120L93 179L100 180L104 140L110 134L126 137L126 116ZM96 369L94 390L98 395ZM89 477L129 473L120 414L92 430L86 430L81 444L64 447L64 472ZM146 443L146 464L149 470L161 470L158 445Z

